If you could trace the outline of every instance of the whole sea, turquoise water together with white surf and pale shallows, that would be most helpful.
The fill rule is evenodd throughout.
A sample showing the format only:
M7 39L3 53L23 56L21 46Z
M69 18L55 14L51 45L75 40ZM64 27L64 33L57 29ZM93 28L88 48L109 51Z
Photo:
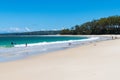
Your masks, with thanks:
M60 35L0 36L0 62L19 60L32 55L42 55L57 50L82 46L99 40L99 37Z

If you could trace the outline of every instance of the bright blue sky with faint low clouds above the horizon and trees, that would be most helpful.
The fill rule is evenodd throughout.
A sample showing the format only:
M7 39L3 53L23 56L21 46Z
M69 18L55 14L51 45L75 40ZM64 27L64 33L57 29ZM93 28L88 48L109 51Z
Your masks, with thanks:
M60 30L120 15L120 0L0 0L0 33Z

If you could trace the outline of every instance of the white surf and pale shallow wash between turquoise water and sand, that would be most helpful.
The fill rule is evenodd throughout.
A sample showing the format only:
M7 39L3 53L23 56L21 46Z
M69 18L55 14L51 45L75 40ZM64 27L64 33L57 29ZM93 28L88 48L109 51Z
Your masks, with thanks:
M68 36L68 35L65 35ZM73 35L69 35L73 36ZM81 36L81 35L75 35L75 36ZM98 41L104 41L104 40L111 40L111 37L103 37L103 36L96 36L96 35L87 35L84 37L89 37L88 39L83 40L72 40L72 41L63 41L59 43L50 43L46 45L36 45L36 46L29 46L28 47L13 47L13 48L3 48L0 50L0 62L9 62L9 61L15 61L20 59L25 59L30 56L37 56L42 54L47 54L54 51L60 51L65 50L69 48L74 48L78 46L88 45L91 43L96 43ZM51 47L52 46L52 47Z

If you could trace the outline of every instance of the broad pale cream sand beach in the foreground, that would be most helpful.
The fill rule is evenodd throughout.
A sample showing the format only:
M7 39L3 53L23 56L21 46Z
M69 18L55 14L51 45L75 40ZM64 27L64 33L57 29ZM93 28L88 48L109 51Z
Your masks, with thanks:
M0 63L0 80L120 80L119 74L120 39Z

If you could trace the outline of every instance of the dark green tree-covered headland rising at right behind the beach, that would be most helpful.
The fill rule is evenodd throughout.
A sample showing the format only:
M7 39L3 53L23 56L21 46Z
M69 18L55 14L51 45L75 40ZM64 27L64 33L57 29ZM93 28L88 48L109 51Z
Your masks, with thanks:
M71 29L63 29L62 35L120 34L120 16L110 16L76 25Z

